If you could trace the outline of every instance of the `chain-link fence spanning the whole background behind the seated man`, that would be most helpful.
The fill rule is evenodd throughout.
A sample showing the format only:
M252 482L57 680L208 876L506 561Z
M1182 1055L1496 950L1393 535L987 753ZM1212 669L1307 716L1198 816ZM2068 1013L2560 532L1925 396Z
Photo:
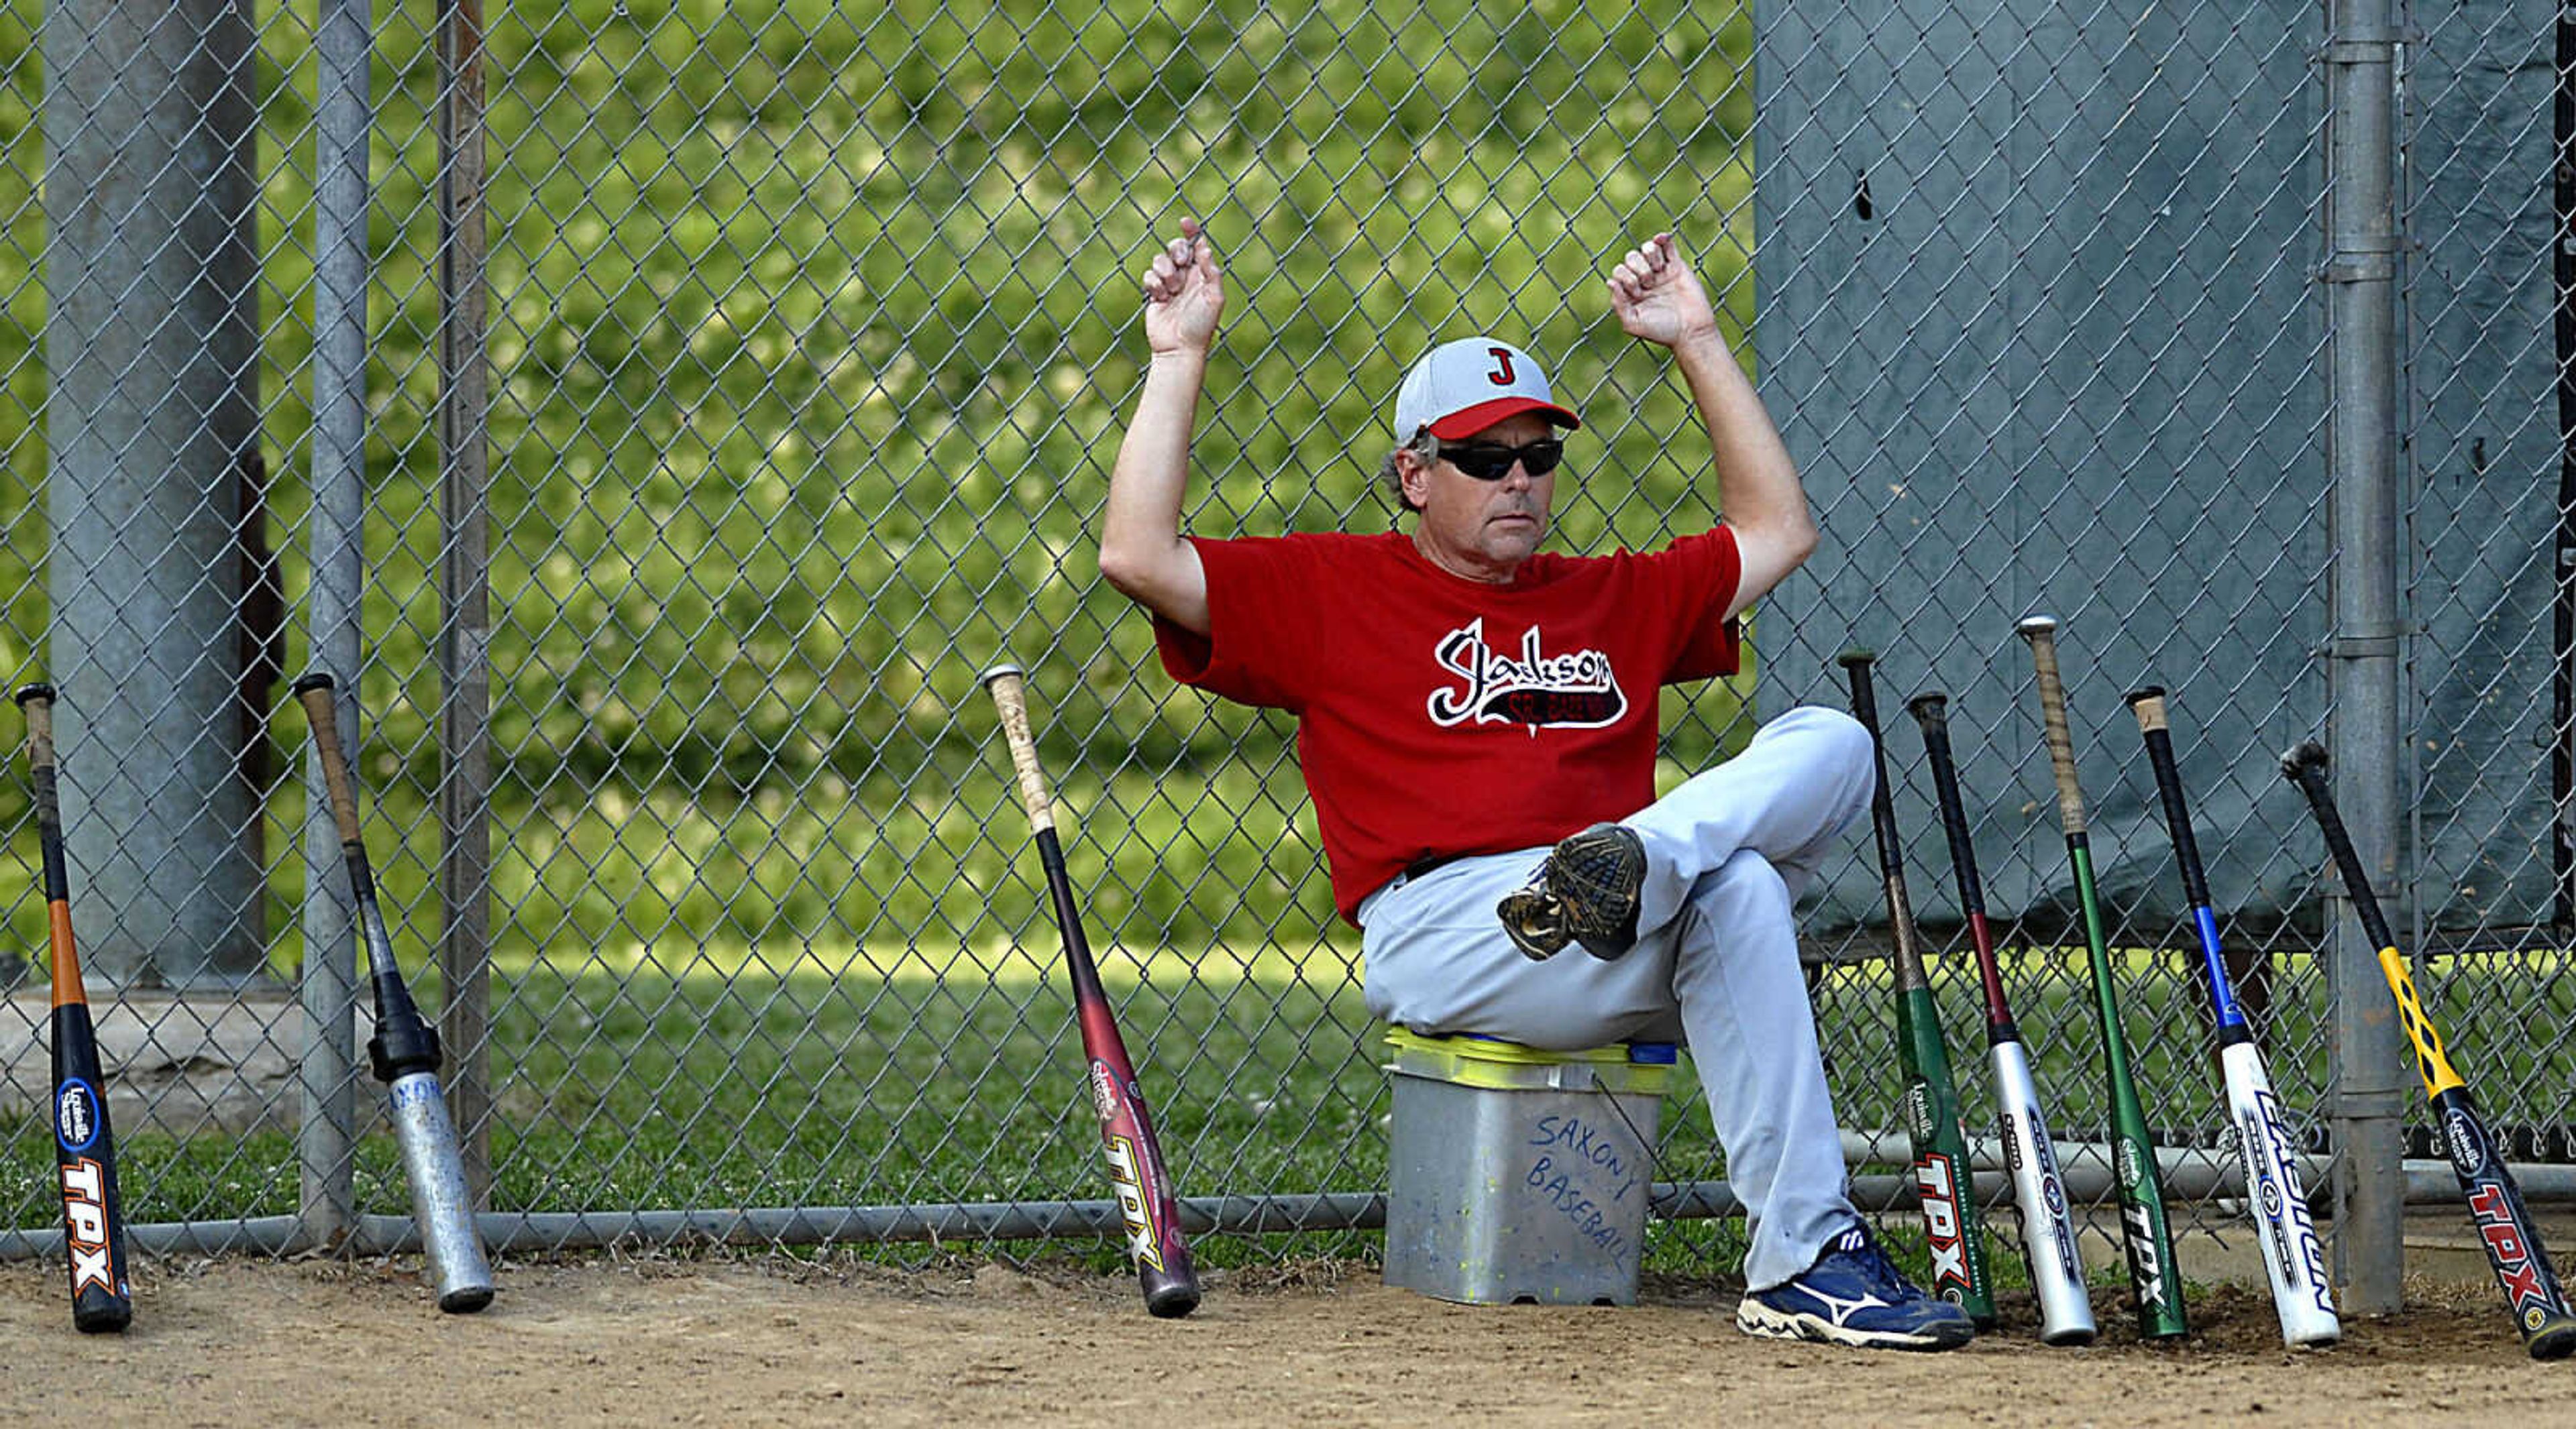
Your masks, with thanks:
M507 1244L1103 1231L1056 935L976 690L1012 657L1182 1190L1203 1220L1350 1249L1381 1213L1386 1092L1293 726L1175 690L1092 561L1136 273L1188 211L1229 276L1206 536L1386 528L1396 376L1471 330L1543 353L1587 415L1566 548L1703 528L1698 417L1600 294L1628 242L1682 234L1826 546L1757 615L1757 677L1667 695L1667 783L1757 705L1832 700L1852 641L1899 695L1947 682L2025 1035L2061 1135L2102 1141L2012 639L2053 608L2141 1084L2192 1218L2228 1233L2179 886L2117 693L2177 690L2239 976L2326 1151L2321 857L2272 757L2344 708L2321 651L2357 639L2331 615L2354 579L2329 502L2336 44L2409 77L2385 893L2447 953L2419 978L2517 1151L2568 1159L2553 23L2463 5L2393 44L2295 5L13 5L0 669L64 690L129 1213L173 1244L299 1246L350 1210L361 1244L397 1233L283 700L327 664ZM1891 754L1940 932L1919 744ZM33 870L23 780L0 827ZM1814 986L1855 1159L1886 1169L1873 891L1855 842ZM41 1228L33 873L0 906L28 953L0 1020L10 1220ZM1965 978L1935 971L1953 1048ZM1705 1112L1674 1112L1667 1177L1721 1177Z

